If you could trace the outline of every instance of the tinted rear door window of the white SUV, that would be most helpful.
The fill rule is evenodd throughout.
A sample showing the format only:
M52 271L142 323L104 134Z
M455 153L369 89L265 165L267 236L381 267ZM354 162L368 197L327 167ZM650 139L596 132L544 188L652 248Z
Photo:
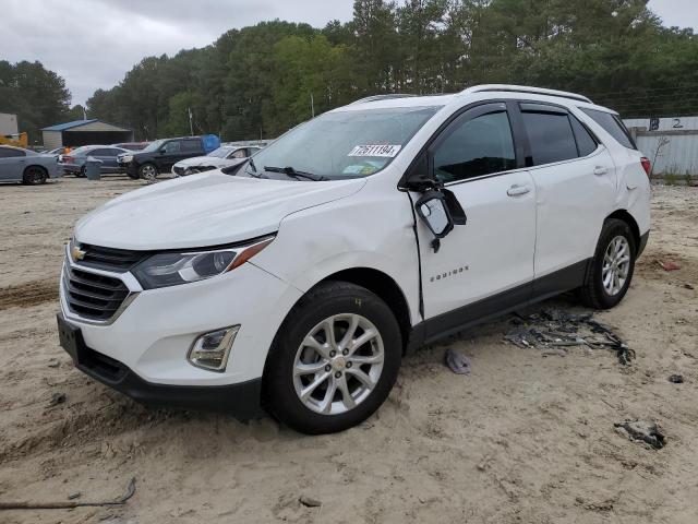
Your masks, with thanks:
M521 114L534 166L577 158L577 143L567 114Z

